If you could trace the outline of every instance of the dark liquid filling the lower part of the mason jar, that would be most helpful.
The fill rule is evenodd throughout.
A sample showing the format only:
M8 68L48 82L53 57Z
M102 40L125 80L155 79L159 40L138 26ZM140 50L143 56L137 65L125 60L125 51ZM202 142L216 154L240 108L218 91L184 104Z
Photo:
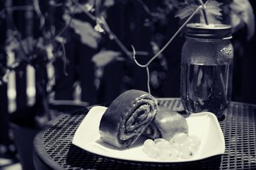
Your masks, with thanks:
M181 99L189 113L209 111L218 115L230 101L230 65L182 64Z

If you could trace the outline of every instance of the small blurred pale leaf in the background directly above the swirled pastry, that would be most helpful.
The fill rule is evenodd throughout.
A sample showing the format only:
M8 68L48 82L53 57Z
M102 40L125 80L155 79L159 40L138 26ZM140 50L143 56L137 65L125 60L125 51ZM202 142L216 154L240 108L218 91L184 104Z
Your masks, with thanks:
M93 63L98 67L104 67L114 60L123 60L123 58L120 58L120 52L102 50L92 57Z

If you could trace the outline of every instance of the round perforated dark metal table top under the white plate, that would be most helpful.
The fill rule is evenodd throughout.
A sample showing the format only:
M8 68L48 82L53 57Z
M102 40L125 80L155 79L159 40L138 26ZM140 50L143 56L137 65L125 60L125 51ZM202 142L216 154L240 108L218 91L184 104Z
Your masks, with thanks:
M159 98L159 105L182 111L179 98ZM34 141L36 169L256 169L256 105L231 102L220 126L225 153L196 162L154 164L100 157L72 144L90 108L52 121Z

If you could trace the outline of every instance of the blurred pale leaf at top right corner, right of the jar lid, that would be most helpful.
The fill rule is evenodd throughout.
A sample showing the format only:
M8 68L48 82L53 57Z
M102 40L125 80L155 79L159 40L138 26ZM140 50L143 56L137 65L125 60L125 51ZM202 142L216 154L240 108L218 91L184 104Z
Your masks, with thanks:
M248 0L234 0L230 4L230 19L234 31L237 31L243 24L246 24L248 35L247 40L250 40L255 33L255 18L252 5Z

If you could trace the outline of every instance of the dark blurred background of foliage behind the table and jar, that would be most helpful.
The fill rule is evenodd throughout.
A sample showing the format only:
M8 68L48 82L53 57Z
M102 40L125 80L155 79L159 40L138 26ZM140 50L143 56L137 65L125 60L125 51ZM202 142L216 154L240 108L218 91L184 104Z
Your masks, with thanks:
M17 88L25 89L25 70L31 65L35 68L37 100L74 100L74 91L78 91L79 100L88 104L111 102L127 89L147 91L146 70L134 64L131 45L138 61L147 63L200 5L192 0L0 2L1 94L6 93L4 86L12 70L17 73ZM233 26L232 100L256 103L252 45L255 1L207 1L206 7L210 23ZM198 13L191 22L200 20ZM154 96L180 97L183 43L182 33L150 65ZM10 55L15 56L12 63L8 63ZM17 92L17 100L22 100L22 94L26 95L26 89ZM22 107L26 101L17 105Z

